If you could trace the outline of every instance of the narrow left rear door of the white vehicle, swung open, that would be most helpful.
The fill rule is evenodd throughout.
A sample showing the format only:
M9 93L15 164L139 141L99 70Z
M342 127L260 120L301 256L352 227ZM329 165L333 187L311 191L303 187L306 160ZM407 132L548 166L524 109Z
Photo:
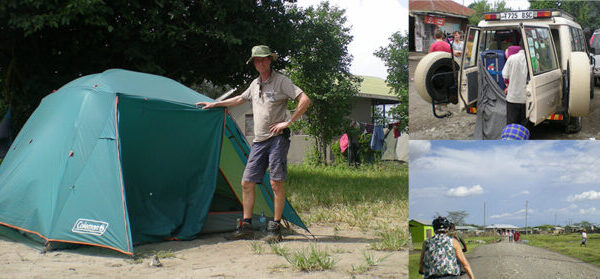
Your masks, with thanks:
M479 91L478 79L479 79L479 55L477 48L479 46L481 36L481 29L476 27L469 27L467 30L467 39L465 43L465 50L462 58L462 66L459 77L459 108L466 109L467 112L474 113L475 111L469 111L467 107L471 107L477 101L477 95Z

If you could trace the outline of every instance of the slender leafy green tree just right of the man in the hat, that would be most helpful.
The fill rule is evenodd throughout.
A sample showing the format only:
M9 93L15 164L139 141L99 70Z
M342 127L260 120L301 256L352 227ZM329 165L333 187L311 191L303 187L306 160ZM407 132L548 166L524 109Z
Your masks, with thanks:
M348 126L345 116L358 92L359 79L349 71L352 36L344 26L345 11L328 2L300 12L303 20L295 33L297 52L290 56L287 72L312 101L298 125L315 140L319 162L327 164L327 146Z

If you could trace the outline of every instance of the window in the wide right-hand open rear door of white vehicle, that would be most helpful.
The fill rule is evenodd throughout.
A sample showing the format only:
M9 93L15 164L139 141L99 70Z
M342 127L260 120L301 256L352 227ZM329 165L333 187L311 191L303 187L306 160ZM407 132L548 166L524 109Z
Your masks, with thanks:
M548 28L525 27L525 38L534 75L558 68Z

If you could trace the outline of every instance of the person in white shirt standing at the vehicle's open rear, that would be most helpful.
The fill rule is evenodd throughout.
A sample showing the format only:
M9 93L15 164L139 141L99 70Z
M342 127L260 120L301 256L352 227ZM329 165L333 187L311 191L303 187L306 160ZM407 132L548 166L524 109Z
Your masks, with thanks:
M506 93L506 124L519 124L527 127L525 115L525 87L527 85L527 61L523 51L523 41L519 52L511 55L504 64L502 76L510 80Z

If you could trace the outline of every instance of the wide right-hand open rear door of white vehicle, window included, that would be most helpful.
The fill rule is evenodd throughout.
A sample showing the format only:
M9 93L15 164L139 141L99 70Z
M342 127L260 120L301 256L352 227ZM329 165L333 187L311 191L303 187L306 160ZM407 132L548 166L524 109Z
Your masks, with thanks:
M526 114L537 125L560 106L562 73L550 28L521 26L521 34L529 71Z

